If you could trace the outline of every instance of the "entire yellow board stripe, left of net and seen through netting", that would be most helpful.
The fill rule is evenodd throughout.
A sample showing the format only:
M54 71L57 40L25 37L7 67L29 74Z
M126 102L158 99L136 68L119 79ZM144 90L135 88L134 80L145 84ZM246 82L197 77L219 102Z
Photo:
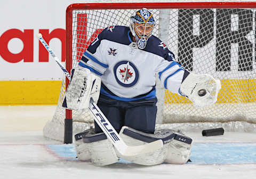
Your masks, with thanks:
M221 80L218 103L256 102L256 79ZM61 81L0 82L0 105L56 105ZM165 91L165 103L190 103L186 97Z

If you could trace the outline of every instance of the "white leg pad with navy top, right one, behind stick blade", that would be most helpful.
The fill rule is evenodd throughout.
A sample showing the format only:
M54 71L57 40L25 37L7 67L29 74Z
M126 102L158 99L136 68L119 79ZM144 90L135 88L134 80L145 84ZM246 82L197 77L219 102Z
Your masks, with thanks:
M156 131L155 134L148 134L124 126L121 129L120 136L127 145L143 145L159 139L163 141L163 148L154 152L141 154L140 156L122 156L116 151L119 158L134 162L135 164L157 165L163 162L185 164L189 159L192 140L186 135L177 133L172 129L161 129Z

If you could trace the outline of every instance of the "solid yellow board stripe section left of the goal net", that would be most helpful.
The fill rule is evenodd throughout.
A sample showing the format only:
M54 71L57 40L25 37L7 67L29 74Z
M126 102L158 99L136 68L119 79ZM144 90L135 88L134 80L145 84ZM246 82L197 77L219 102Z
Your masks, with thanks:
M58 104L61 81L0 82L0 105Z

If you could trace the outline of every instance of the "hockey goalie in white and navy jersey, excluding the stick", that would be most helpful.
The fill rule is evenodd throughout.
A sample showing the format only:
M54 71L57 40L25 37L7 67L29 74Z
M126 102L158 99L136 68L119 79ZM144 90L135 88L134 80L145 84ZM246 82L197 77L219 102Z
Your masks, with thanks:
M196 108L217 101L220 80L183 68L152 35L154 26L153 14L141 9L131 17L129 27L104 29L73 69L63 107L83 110L93 99L127 145L161 139L163 148L140 156L122 156L95 123L95 128L75 135L79 160L91 160L97 166L113 164L118 158L141 165L185 164L189 160L189 136L171 129L155 131L155 74L167 90L186 96Z

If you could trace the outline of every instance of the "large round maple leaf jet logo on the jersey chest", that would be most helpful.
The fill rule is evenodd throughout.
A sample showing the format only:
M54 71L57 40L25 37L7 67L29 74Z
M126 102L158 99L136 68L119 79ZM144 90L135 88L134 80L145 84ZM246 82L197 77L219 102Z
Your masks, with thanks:
M120 61L114 66L116 82L123 87L132 87L137 84L139 71L135 65L127 60Z

